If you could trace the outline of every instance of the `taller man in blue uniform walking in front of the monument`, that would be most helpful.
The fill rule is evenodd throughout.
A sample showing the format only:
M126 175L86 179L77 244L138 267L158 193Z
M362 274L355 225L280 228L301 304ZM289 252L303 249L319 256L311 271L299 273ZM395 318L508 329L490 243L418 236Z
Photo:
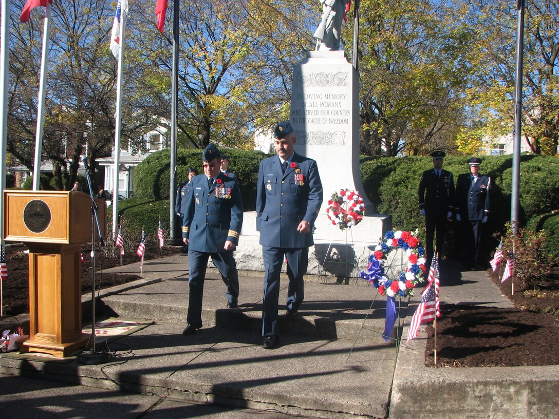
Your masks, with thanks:
M314 244L312 228L322 203L322 184L316 161L293 150L296 138L289 122L274 129L277 156L264 159L258 169L256 226L264 259L262 336L264 349L277 345L278 298L283 258L287 259L287 314L299 310L304 299L303 275Z

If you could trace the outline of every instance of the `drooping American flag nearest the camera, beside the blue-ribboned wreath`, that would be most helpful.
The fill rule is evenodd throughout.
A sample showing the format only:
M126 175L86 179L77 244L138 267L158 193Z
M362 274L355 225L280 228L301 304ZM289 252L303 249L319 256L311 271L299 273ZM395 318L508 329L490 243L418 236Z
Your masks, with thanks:
M433 256L431 269L429 270L429 284L423 292L421 292L421 301L414 316L411 318L410 328L408 329L408 341L418 336L419 326L421 323L434 320L435 316L440 317L440 299L439 299L439 263L437 256Z

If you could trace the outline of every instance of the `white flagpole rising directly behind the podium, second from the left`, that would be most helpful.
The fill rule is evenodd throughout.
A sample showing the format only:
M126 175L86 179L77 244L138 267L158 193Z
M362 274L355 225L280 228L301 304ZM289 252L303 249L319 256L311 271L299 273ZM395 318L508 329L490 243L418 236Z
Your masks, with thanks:
M42 127L45 114L46 68L49 65L50 2L46 2L45 25L42 34L41 75L39 79L39 101L37 103L37 132L35 133L35 163L33 167L33 190L39 191L41 178Z

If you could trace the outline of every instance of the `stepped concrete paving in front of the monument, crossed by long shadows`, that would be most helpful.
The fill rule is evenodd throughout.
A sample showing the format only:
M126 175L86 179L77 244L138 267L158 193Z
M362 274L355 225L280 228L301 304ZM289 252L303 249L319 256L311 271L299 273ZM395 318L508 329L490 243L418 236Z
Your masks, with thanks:
M224 284L219 274L209 272L204 327L183 336L187 269L182 254L145 261L144 279L137 288L126 285L101 292L106 315L155 321L110 345L119 355L116 362L48 364L2 358L0 372L9 374L0 376L6 383L0 386L2 399L23 397L18 386L35 386L36 391L25 397L41 417L49 411L58 412L57 417L115 412L111 416L122 418L236 418L256 412L273 418L557 417L559 367L426 368L423 327L418 339L399 349L394 342L386 344L381 337L386 300L376 297L376 290L365 282L307 282L299 314L281 315L280 346L264 350L262 274L243 273L239 308L227 309ZM134 264L110 272L139 270ZM510 306L485 272L461 273L444 261L441 280L442 302ZM282 280L280 303L286 298L286 284ZM416 303L417 298L412 299L408 310L401 302L397 324L403 336ZM30 378L29 384L22 383ZM53 403L53 394L60 404ZM97 398L107 402L95 403L89 410L95 414L88 416L84 410L82 416L70 396L86 403L80 406ZM6 413L16 412L16 406L20 405L8 404Z

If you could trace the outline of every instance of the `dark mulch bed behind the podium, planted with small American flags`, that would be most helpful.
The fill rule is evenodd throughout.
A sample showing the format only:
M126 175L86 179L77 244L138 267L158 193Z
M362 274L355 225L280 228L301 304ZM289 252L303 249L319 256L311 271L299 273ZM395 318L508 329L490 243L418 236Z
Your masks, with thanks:
M91 246L91 245L90 245ZM84 249L84 248L83 248ZM82 249L82 250L83 250ZM6 246L6 266L8 269L8 279L2 283L3 313L4 316L16 316L22 313L29 313L29 254L23 253L27 250L25 245ZM91 257L89 251L83 250L82 263L82 294L91 293ZM163 247L162 253L159 249L151 250L146 248L144 261L158 259L181 251L181 247ZM139 262L140 258L135 252L127 252L122 255L122 265ZM101 251L96 251L95 266L96 271L113 268L120 265L120 255L117 258L106 258ZM138 275L129 274L109 274L102 272L95 275L95 288L104 289L115 285L126 284L136 279Z

